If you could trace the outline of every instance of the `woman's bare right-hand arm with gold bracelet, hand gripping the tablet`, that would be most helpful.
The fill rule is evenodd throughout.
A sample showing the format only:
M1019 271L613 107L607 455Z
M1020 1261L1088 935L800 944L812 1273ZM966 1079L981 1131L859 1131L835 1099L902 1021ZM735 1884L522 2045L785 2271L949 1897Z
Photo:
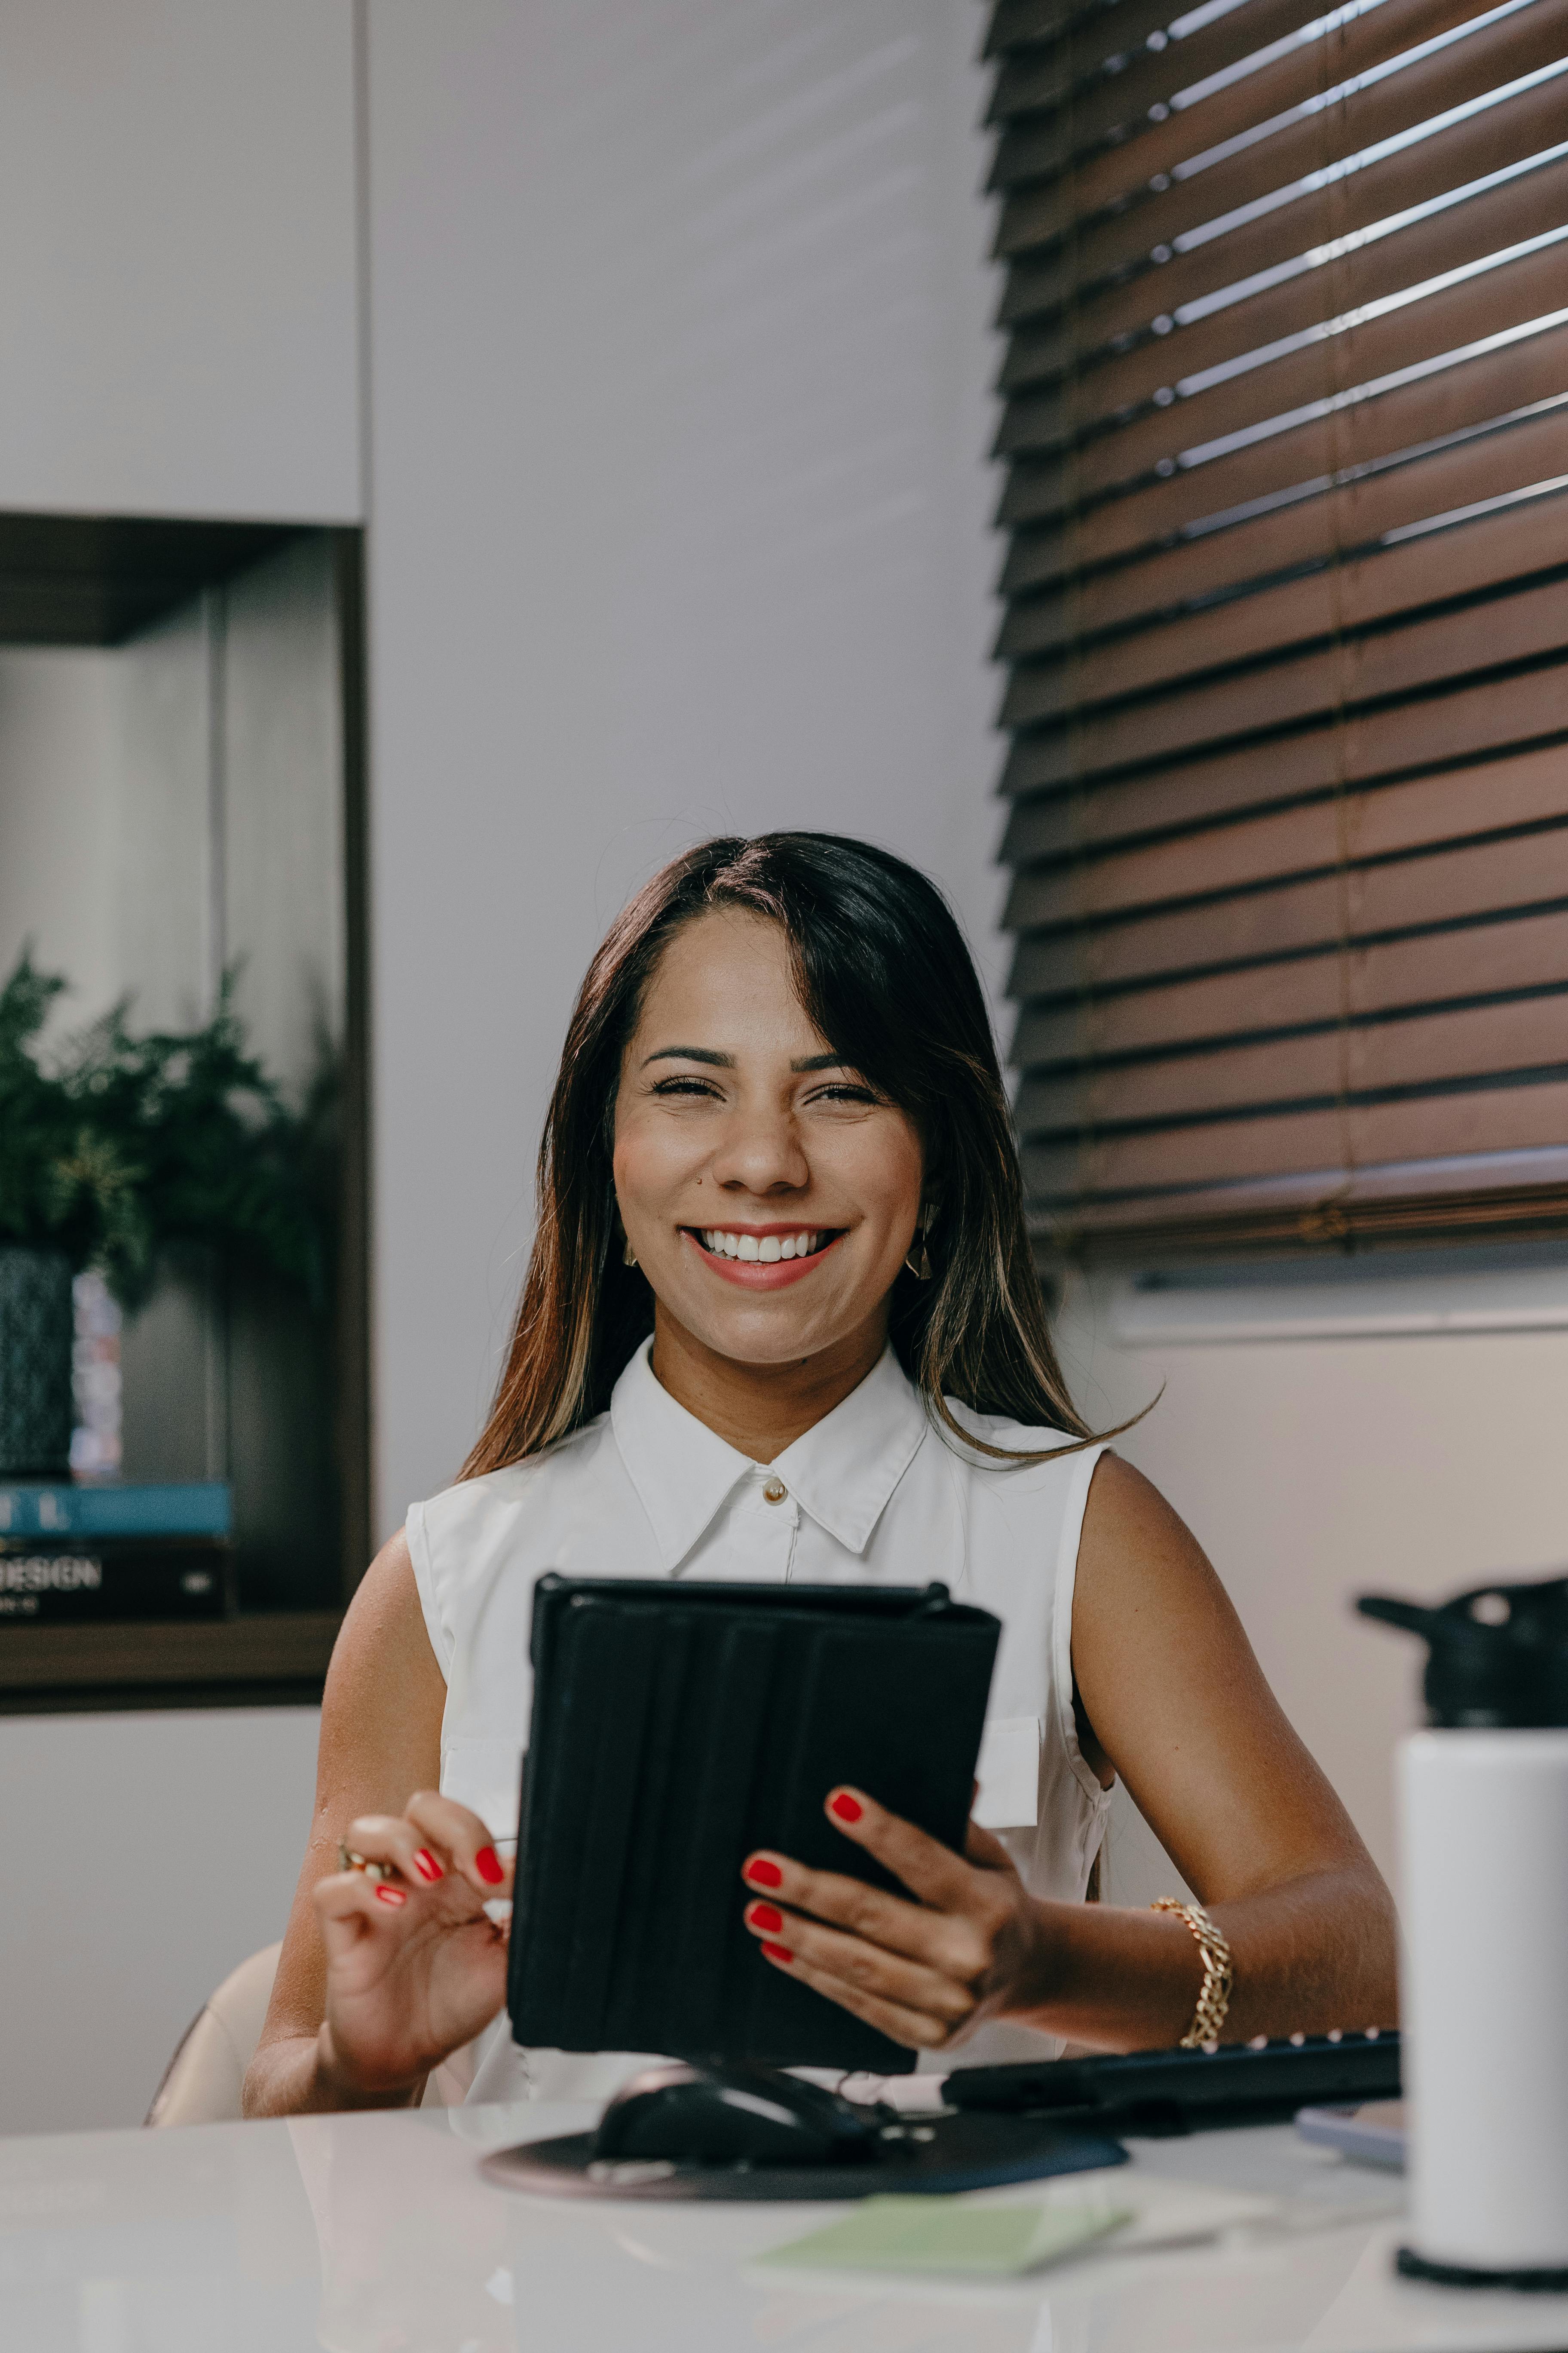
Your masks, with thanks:
M1225 2040L1392 2024L1389 1892L1197 1541L1117 1457L1100 1459L1084 1515L1072 1664L1088 1760L1121 1774L1229 1939ZM748 1878L776 1897L750 1904L748 1925L773 1967L917 2047L987 2017L1100 2049L1187 2033L1204 1972L1182 1920L1041 1904L985 1831L959 1859L860 1791L849 1798L860 1814L830 1800L837 1826L919 1901L785 1857L764 1857L776 1878L757 1878L752 1857Z

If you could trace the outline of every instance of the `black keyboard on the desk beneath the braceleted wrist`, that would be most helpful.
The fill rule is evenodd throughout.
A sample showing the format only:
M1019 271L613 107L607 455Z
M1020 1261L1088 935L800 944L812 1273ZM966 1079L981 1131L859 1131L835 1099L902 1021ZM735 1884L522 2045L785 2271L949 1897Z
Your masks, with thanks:
M1298 2108L1356 2106L1363 2099L1399 2099L1399 2033L1373 2028L1363 2035L1222 2042L1213 2052L1117 2052L957 2068L945 2097L952 2108L1157 2134L1274 2125Z

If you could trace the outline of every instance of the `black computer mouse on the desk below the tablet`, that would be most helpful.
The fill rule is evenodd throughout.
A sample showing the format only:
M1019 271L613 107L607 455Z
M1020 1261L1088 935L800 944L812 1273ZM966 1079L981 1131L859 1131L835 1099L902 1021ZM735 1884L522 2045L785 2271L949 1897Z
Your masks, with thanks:
M632 2075L599 2118L595 2158L675 2165L875 2165L882 2118L778 2068L670 2061Z

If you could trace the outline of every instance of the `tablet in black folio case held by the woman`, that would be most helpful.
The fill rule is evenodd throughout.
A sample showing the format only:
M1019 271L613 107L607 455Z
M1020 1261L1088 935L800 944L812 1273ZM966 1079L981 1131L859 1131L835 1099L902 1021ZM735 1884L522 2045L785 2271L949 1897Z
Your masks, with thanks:
M741 1864L773 1847L907 1894L823 1812L839 1781L961 1849L999 1633L945 1586L541 1577L517 2042L912 2068L769 1967Z

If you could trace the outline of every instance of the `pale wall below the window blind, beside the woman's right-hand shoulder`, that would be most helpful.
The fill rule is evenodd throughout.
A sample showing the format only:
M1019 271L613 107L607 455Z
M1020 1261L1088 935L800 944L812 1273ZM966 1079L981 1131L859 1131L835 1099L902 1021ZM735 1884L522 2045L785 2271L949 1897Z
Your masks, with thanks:
M1436 1308L1479 1280L1420 1287ZM1368 1271L1361 1297L1378 1282ZM1568 1569L1568 1329L1124 1346L1095 1285L1074 1289L1060 1348L1100 1426L1164 1384L1117 1447L1197 1532L1295 1729L1396 1878L1392 1751L1420 1720L1422 1652L1352 1602Z

